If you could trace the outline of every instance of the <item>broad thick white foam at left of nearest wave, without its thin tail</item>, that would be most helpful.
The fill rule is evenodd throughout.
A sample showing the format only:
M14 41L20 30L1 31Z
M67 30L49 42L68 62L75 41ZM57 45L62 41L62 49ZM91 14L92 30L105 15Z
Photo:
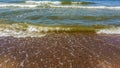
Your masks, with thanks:
M23 29L22 29L23 28ZM37 32L36 28L26 27L24 28L21 25L5 25L0 27L0 37L44 37L46 34Z

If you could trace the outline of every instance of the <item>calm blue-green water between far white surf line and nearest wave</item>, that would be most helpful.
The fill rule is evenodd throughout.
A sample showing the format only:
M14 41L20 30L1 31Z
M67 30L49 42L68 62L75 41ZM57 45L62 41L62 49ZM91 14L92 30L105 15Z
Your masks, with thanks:
M120 24L120 10L77 9L77 8L6 8L0 9L0 18L9 22L37 24Z

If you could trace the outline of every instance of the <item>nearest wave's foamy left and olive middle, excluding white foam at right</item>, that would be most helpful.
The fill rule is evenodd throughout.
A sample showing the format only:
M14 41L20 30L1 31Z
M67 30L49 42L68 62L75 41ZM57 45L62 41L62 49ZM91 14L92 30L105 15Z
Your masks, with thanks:
M0 24L0 36L43 37L48 33L95 33L96 27L66 25L35 25L26 23Z

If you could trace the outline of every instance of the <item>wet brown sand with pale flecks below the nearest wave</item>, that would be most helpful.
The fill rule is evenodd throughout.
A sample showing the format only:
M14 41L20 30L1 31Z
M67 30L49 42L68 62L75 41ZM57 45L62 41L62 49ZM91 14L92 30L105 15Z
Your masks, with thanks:
M0 68L120 68L120 36L0 37Z

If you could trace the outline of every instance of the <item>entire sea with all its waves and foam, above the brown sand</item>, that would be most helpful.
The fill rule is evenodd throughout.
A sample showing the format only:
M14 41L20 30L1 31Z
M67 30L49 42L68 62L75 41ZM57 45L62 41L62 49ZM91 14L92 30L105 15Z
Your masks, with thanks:
M1 36L83 30L120 34L119 25L119 0L0 0Z

